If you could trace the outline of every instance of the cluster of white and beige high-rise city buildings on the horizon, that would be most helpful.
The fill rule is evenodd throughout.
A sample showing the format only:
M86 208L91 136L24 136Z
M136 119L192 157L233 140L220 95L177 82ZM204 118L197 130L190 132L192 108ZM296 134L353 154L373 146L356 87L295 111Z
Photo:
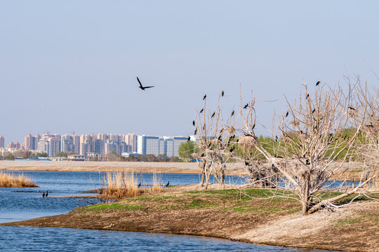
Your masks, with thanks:
M136 134L50 134L42 136L28 134L25 141L20 144L11 141L4 146L4 137L0 136L0 150L4 151L38 151L54 157L58 151L77 153L86 157L98 157L107 153L117 155L166 155L178 157L180 144L188 141L189 137L153 137ZM191 141L197 141L197 137L190 137ZM1 153L0 151L0 153Z

